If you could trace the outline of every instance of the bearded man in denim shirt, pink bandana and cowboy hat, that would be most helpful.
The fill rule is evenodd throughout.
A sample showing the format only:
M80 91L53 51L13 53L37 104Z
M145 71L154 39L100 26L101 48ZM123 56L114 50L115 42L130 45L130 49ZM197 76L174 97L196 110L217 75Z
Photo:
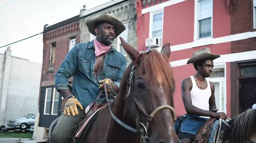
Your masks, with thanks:
M95 100L103 82L118 92L126 68L125 57L111 44L125 27L113 14L89 18L86 26L96 36L93 41L76 44L67 54L55 75L56 89L66 100L51 136L51 142L70 142L84 107ZM73 87L68 79L73 76ZM78 106L78 108L77 108ZM72 116L70 116L72 115Z

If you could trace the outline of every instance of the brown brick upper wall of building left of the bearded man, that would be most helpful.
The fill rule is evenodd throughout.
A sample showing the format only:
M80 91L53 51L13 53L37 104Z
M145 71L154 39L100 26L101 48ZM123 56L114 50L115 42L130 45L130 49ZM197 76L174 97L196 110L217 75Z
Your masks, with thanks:
M76 36L76 43L80 42L79 23L73 22L65 26L61 26L44 34L43 42L43 65L42 65L42 86L54 85L54 76L60 64L64 60L69 50L69 38ZM56 42L54 69L49 70L50 61L50 44Z

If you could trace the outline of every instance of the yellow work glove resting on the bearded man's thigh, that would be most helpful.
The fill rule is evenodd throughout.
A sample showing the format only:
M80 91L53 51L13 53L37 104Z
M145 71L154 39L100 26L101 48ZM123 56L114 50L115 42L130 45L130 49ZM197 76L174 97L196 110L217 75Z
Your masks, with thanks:
M65 99L66 100L66 99ZM66 100L66 104L64 106L64 115L70 116L70 112L72 114L72 116L76 116L78 115L78 110L77 110L77 106L83 110L83 106L82 104L76 99L76 97L74 95L72 95L71 98L68 98Z

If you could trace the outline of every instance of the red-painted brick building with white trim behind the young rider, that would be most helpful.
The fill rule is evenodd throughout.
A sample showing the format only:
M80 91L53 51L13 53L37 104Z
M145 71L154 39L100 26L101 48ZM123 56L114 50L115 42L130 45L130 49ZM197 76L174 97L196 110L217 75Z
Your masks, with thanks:
M177 116L186 113L181 81L196 73L187 61L205 47L221 56L209 78L217 108L232 117L256 103L255 0L136 0L136 8L138 50L171 43Z

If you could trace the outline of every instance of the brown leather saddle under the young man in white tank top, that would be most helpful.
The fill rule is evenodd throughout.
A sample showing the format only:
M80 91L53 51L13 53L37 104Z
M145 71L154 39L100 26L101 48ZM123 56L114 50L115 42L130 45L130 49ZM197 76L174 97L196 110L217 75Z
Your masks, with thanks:
M218 120L218 118L209 118L208 120L206 120L197 131L196 138L194 139L193 143L207 143L212 130L212 124L216 120Z

